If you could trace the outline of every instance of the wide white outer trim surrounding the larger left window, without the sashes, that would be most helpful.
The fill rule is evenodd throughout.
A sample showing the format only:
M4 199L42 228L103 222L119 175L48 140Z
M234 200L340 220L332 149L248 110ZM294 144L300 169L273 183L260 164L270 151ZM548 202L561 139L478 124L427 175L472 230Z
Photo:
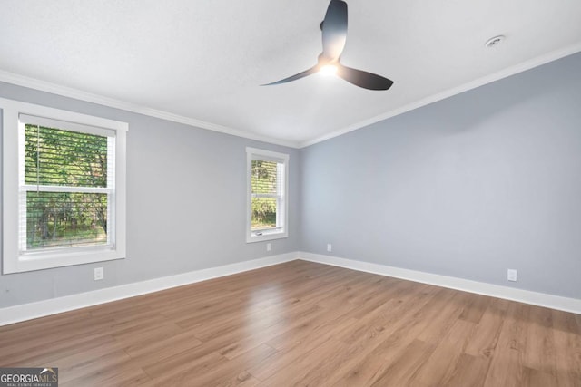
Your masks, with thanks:
M0 98L2 109L2 178L3 178L3 251L2 273L21 273L51 267L81 265L122 259L126 254L126 122L113 121L73 111L63 111L32 103ZM58 121L76 122L99 129L115 131L115 200L113 247L74 247L21 254L18 240L18 124L19 114L29 114Z

